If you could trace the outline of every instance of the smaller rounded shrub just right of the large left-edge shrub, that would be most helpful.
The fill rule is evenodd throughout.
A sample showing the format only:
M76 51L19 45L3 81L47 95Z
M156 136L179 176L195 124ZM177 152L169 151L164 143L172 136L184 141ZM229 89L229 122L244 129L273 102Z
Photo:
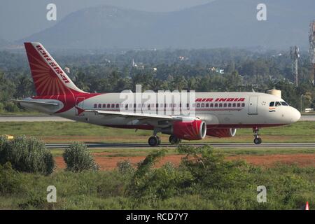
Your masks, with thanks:
M66 170L71 172L96 171L99 166L85 144L73 142L62 154L66 162Z

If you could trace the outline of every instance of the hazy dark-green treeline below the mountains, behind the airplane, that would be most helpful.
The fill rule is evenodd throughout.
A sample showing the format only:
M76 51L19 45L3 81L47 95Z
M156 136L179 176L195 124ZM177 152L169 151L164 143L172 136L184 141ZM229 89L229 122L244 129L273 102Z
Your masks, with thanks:
M296 108L315 106L312 68L306 53L299 61L300 85L293 83L288 52L248 50L132 50L115 53L61 55L59 65L87 92L135 90L196 90L197 92L265 92L282 90L283 99ZM132 64L134 61L135 64ZM0 52L0 111L20 109L8 99L35 94L25 53Z

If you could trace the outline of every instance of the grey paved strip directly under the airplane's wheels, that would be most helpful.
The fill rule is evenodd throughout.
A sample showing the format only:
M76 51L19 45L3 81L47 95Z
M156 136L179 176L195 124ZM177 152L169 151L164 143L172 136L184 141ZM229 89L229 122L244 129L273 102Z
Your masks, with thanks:
M47 148L68 148L69 144L53 143L45 144ZM119 144L119 143L86 143L87 148L176 148L178 145L160 144L160 146L151 147L148 144ZM187 144L190 146L213 146L214 148L314 148L314 143L262 143L255 145L253 143L205 143L205 144Z

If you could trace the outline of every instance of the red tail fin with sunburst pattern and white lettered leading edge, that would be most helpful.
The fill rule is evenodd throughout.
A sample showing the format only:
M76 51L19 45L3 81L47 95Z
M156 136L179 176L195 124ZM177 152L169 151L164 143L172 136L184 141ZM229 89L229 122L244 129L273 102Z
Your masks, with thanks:
M41 43L24 43L38 96L76 94L80 90Z

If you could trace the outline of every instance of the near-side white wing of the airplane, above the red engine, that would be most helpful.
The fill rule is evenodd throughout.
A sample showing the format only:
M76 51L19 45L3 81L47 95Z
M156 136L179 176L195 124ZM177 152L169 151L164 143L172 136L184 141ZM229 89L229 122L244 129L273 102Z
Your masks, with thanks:
M134 118L137 120L142 119L155 119L155 120L195 120L195 118L188 118L184 116L170 116L170 115L160 115L155 113L132 113L132 112L120 112L120 111L98 111L98 110L86 110L85 112L94 112L96 114L101 114L104 116L120 116L123 118Z

